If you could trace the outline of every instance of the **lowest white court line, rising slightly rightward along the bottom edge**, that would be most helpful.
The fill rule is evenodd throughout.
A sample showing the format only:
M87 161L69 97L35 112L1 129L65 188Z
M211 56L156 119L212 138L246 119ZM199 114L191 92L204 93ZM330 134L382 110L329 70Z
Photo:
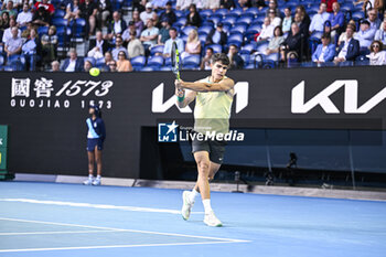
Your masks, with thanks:
M107 249L107 248L132 248L132 247L150 247L150 246L186 246L186 245L215 245L230 244L238 242L186 242L171 244L146 244L146 245L104 245L104 246L79 246L79 247L57 247L57 248L26 248L26 249L3 249L0 253L17 253L17 251L43 251L43 250L77 250L77 249Z

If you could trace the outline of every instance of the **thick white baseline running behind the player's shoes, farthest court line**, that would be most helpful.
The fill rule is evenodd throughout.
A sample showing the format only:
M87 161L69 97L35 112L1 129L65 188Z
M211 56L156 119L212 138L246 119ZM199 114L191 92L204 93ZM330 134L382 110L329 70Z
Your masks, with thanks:
M62 202L62 201L43 201L35 199L0 199L2 202L21 202L21 203L35 203L35 204L51 204L51 205L62 205L62 206L73 206L73 207L93 207L93 208L104 208L104 210L121 210L130 212L148 212L148 213L169 213L179 214L179 210L169 208L150 208L150 207L136 207L136 206L120 206L111 204L90 204L90 203L74 203L74 202ZM203 212L192 212L192 214L203 214Z

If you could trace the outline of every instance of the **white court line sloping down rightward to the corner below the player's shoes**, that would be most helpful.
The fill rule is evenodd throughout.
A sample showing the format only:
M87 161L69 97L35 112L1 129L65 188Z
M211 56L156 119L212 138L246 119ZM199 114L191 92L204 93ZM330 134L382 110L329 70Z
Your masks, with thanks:
M28 223L49 224L49 225L58 225L58 226L86 227L86 228L96 228L96 229L104 229L104 231L111 231L111 232L131 232L131 233L142 233L142 234L163 235L163 236L180 236L180 237L222 240L224 243L249 243L250 242L250 240L221 238L221 237L211 237L211 236L195 236L195 235L184 235L184 234L176 234L176 233L122 229L122 228L114 228L114 227L89 226L89 225L78 225L78 224L69 224L69 223L56 223L56 222L41 222L41 221L30 221L30 219L9 218L9 217L0 217L0 221L28 222Z

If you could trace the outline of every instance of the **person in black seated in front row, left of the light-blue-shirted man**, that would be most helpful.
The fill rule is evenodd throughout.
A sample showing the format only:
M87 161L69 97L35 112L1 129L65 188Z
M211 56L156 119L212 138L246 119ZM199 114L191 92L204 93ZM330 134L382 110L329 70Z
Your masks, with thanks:
M302 55L302 36L300 34L300 29L297 23L292 23L291 33L287 36L285 42L280 47L281 61L289 60L290 55L297 55L298 60L301 60Z

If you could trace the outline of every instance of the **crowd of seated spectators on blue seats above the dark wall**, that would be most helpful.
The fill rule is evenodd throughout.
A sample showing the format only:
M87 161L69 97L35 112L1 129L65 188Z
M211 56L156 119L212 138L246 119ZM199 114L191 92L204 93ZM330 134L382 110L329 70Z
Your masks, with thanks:
M2 0L0 69L170 71L173 42L186 69L386 65L385 2Z

